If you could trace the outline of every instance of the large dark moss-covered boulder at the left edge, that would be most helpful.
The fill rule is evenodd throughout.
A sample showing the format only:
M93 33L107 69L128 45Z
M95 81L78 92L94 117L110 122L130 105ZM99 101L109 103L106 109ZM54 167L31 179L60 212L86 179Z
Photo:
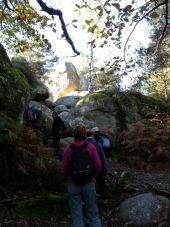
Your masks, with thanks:
M7 143L17 137L30 98L29 83L21 71L13 67L0 44L0 143Z

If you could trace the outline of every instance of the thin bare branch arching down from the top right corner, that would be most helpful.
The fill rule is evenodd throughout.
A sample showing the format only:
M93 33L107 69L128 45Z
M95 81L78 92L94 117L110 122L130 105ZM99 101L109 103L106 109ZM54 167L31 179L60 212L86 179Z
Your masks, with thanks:
M129 42L129 39L130 39L131 35L133 34L135 28L137 27L137 25L138 25L145 17L147 17L150 13L152 13L153 11L155 11L155 10L156 10L157 8L159 8L160 6L165 5L167 1L168 1L168 0L165 0L164 2L162 2L162 3L158 4L158 5L156 5L155 7L153 7L153 8L152 8L151 10L149 10L145 15L143 15L143 16L136 22L136 24L134 25L134 27L133 27L132 31L130 32L128 38L126 39L126 42L125 42L125 45L124 45L124 61L125 61L126 64L127 64L127 62L126 62L126 46L127 46L127 43Z

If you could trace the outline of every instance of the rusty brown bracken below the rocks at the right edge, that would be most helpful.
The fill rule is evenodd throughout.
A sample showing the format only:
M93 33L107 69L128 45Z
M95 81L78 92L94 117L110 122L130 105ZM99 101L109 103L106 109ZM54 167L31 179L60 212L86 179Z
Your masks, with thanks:
M155 117L115 134L113 158L147 168L170 164L170 118Z

